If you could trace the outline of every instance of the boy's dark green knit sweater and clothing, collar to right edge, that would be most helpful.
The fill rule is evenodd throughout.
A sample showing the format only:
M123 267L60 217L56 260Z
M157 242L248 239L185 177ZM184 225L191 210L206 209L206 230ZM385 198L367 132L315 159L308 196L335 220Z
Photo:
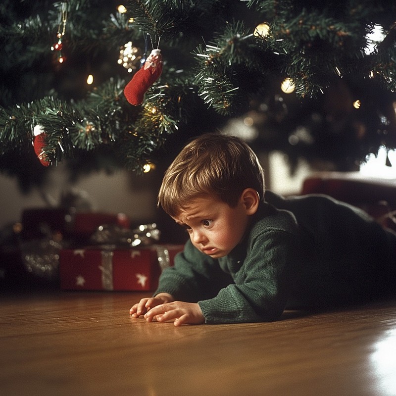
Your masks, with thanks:
M326 196L266 192L243 241L213 259L189 241L155 294L198 302L205 323L276 320L395 294L396 234Z

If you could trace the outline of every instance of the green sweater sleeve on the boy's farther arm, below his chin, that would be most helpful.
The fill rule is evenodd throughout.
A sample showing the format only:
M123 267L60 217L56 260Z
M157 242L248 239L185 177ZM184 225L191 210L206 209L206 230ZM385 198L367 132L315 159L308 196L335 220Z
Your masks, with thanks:
M162 272L154 296L169 293L180 301L197 302L216 296L231 282L232 277L221 270L216 259L188 241L183 252L176 255L174 266Z

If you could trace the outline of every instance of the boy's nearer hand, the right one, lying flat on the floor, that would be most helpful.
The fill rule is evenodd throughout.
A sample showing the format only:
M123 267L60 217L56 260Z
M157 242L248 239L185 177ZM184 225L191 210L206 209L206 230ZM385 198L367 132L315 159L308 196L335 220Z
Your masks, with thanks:
M198 325L205 322L201 308L197 303L173 301L157 305L150 309L145 318L148 322L155 319L158 322L174 320L175 326L183 324Z

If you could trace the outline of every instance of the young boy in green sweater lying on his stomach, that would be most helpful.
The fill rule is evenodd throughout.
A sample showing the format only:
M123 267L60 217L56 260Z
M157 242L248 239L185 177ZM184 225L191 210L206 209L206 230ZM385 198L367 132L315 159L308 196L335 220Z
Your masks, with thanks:
M264 194L253 151L206 134L165 173L158 204L190 241L153 297L131 309L148 322L276 320L285 308L325 308L395 295L396 234L327 196Z

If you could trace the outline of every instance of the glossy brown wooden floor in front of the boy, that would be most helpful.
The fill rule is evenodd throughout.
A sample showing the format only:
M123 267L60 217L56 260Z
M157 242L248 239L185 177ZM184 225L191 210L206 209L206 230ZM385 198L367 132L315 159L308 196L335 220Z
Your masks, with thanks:
M132 319L143 296L0 296L0 395L396 395L395 301L176 328Z

